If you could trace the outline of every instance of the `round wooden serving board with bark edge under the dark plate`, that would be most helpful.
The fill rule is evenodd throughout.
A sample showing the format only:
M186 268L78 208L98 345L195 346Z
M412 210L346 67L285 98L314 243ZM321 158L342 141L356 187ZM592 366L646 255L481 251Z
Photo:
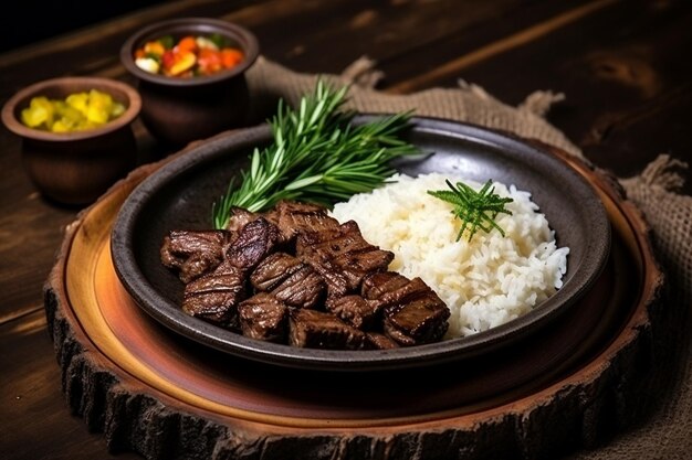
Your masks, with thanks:
M147 458L475 459L596 443L646 406L663 277L644 221L615 182L555 154L596 186L612 225L596 287L574 313L511 352L400 373L248 362L150 319L109 256L119 206L162 162L137 169L69 227L46 285L71 408L112 450Z

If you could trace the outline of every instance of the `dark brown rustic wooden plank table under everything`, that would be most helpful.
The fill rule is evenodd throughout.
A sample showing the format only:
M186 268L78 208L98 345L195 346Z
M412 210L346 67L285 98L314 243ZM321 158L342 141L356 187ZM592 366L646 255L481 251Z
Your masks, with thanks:
M692 3L683 0L167 2L1 54L0 103L62 75L128 82L118 61L124 40L174 17L245 25L262 54L301 72L338 73L367 55L385 72L380 87L390 92L463 78L511 105L537 89L564 93L549 121L619 176L639 172L662 152L692 160L692 60L685 54ZM137 132L141 158L161 153L143 129ZM4 128L0 178L0 457L115 458L70 414L45 330L42 286L80 210L35 192L22 171L20 141Z

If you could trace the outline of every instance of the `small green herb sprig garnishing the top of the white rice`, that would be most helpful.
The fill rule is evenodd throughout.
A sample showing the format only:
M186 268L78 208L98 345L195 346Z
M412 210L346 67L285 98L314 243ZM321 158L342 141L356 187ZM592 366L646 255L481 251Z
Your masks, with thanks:
M479 229L490 233L496 228L504 236L504 231L495 223L495 217L500 213L512 215L512 212L505 210L504 206L514 200L495 194L495 188L491 189L492 180L485 182L478 192L463 182L457 182L457 185L453 185L449 180L445 182L451 191L429 190L428 194L454 206L452 214L462 222L457 240L461 239L465 229L469 229L469 242Z

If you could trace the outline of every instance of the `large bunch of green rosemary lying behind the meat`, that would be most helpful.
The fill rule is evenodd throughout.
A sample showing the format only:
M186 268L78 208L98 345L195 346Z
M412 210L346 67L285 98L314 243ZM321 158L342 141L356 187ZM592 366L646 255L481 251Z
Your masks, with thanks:
M331 206L384 184L395 172L388 165L391 159L419 153L398 137L409 113L350 125L355 114L342 110L347 90L334 90L318 81L297 108L280 100L270 120L274 141L254 149L250 170L241 172L238 186L231 181L227 193L213 203L216 228L227 227L233 206L259 212L281 200Z

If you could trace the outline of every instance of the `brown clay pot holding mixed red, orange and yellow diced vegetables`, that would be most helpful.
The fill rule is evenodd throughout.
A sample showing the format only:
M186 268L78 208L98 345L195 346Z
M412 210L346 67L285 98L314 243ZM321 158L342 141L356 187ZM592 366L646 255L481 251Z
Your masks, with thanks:
M135 51L165 35L220 34L242 50L234 67L189 78L153 74L135 64ZM245 71L259 55L255 36L237 24L208 18L184 18L154 23L132 35L120 49L120 61L138 81L141 119L159 141L182 146L244 125L249 108Z

